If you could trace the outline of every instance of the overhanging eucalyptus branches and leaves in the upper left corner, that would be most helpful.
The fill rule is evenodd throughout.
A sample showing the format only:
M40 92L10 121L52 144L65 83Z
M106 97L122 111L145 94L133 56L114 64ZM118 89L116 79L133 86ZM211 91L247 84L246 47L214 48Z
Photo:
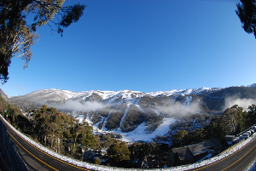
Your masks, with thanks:
M65 0L5 0L0 2L0 79L9 79L8 68L13 57L32 59L31 46L38 41L37 28L48 24L61 34L64 28L79 20L85 5L63 7ZM31 20L28 20L32 18Z

